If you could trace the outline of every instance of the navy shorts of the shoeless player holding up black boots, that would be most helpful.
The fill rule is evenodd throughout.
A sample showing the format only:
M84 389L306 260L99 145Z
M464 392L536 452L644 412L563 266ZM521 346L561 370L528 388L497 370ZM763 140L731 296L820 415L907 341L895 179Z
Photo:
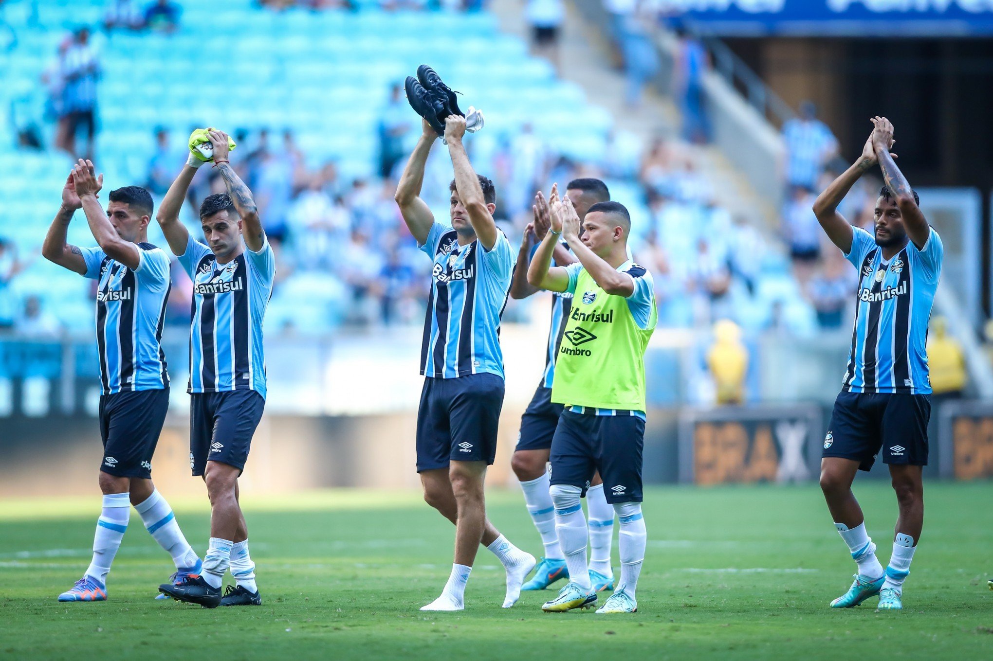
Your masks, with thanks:
M489 372L426 377L417 409L417 472L449 462L494 463L503 378Z

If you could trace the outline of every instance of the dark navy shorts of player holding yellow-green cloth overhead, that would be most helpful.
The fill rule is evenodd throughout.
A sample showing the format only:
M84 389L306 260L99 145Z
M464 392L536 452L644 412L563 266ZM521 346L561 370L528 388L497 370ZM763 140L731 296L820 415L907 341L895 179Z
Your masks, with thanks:
M243 470L265 398L254 390L190 395L190 467L203 475L208 462Z

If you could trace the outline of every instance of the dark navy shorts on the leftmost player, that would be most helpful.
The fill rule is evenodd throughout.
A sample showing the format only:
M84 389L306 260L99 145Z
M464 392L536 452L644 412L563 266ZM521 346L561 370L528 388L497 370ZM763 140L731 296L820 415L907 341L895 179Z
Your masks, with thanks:
M100 395L100 470L117 477L151 477L168 410L169 388Z

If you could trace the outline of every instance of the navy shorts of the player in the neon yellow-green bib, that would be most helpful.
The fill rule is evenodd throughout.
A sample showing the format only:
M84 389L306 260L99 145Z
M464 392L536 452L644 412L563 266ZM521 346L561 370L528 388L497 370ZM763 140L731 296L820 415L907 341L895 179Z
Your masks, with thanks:
M583 489L593 473L604 479L607 502L641 502L644 421L633 415L597 416L563 411L552 439L552 484Z

